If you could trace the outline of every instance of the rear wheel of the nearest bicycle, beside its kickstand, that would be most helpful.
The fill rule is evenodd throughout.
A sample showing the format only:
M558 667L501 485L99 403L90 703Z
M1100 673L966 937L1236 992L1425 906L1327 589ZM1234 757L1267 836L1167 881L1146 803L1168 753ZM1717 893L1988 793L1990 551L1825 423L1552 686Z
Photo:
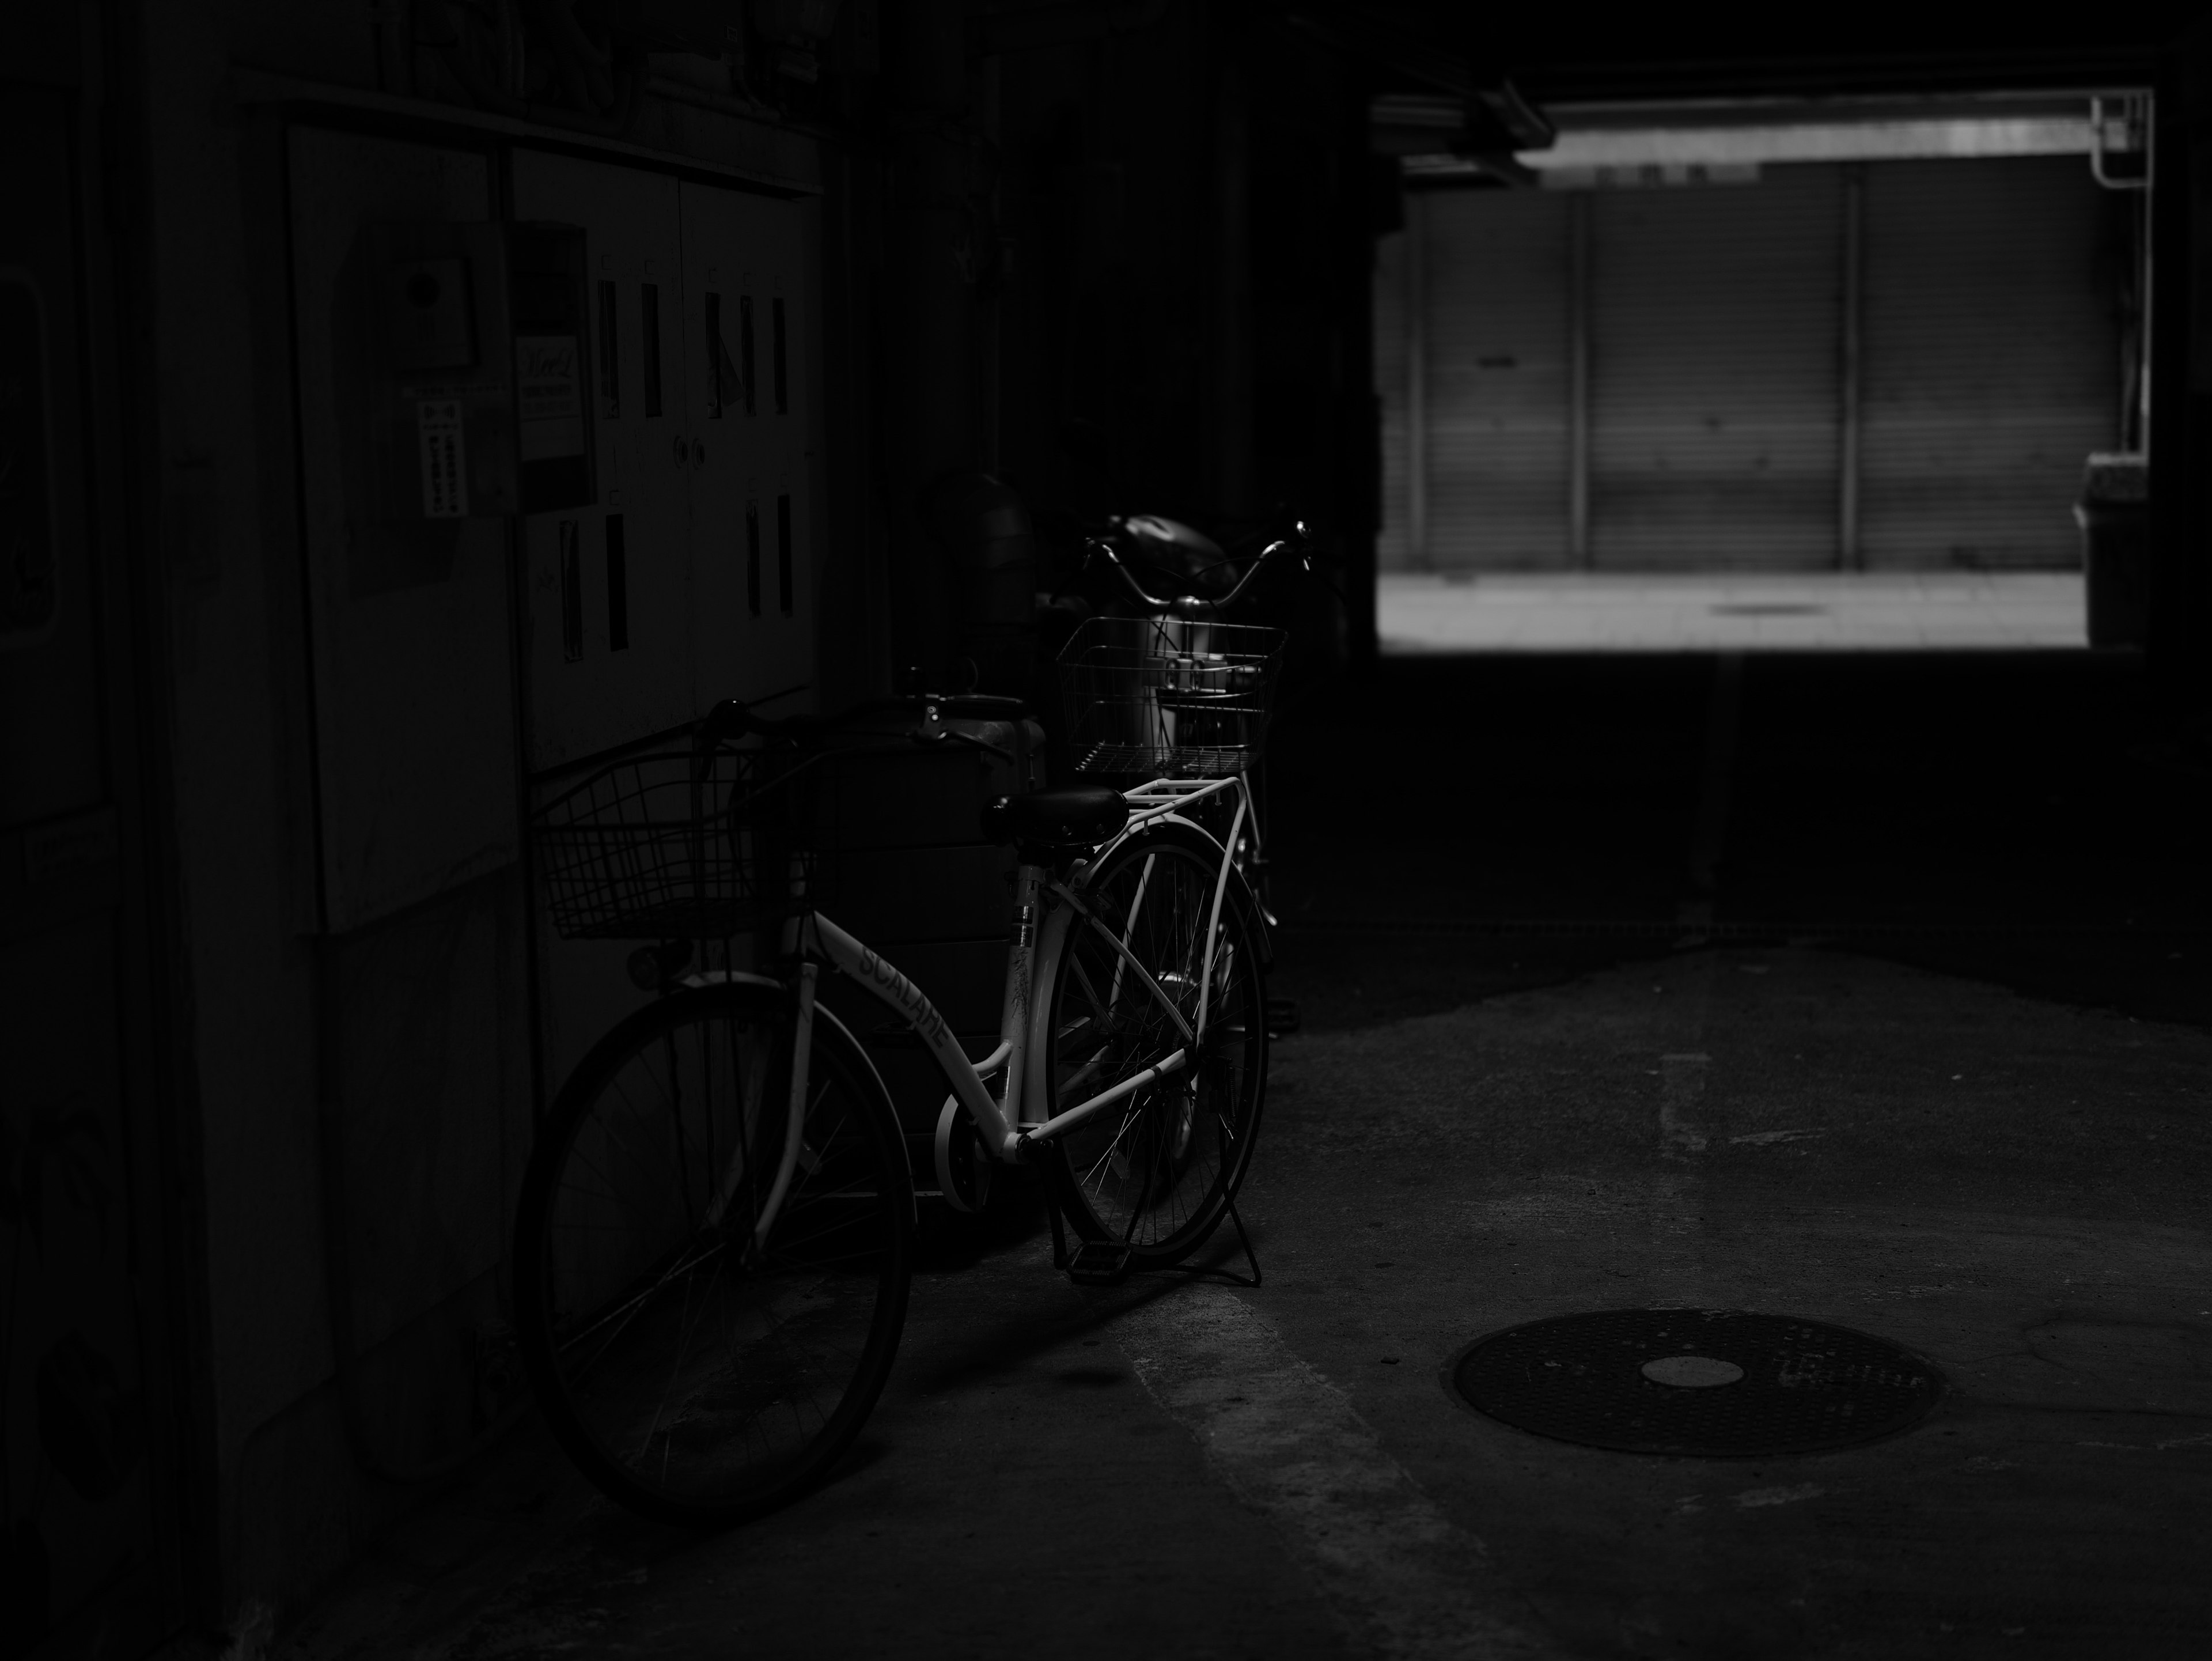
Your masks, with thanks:
M1203 980L1197 949L1221 858L1210 836L1161 823L1108 852L1082 885L1091 911L1121 933L1192 1026ZM1051 969L1042 1115L1064 1112L1183 1042L1124 969L1086 922L1068 929ZM1252 898L1234 871L1208 1000L1201 1055L1048 1143L1044 1170L1068 1225L1086 1241L1126 1243L1130 1267L1172 1267L1197 1252L1252 1166L1267 1088L1267 984Z

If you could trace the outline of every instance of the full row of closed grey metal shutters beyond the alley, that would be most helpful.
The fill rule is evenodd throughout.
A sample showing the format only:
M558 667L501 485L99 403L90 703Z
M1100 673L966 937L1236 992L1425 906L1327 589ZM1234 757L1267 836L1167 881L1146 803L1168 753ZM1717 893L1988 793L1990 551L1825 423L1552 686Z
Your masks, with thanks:
M1376 279L1385 568L1577 564L1577 234L1582 564L2075 566L2081 460L2119 438L2106 265L2124 257L2124 199L2079 157L1880 161L1858 177L1856 560L1851 184L1792 164L1756 186L1416 195Z

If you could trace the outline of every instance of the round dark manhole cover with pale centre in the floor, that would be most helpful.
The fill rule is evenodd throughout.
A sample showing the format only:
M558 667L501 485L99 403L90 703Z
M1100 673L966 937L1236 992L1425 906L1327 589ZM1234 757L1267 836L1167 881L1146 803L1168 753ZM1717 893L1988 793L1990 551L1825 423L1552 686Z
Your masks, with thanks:
M1495 1420L1624 1453L1820 1453L1918 1424L1942 1373L1847 1327L1736 1309L1608 1309L1493 1331L1451 1385Z

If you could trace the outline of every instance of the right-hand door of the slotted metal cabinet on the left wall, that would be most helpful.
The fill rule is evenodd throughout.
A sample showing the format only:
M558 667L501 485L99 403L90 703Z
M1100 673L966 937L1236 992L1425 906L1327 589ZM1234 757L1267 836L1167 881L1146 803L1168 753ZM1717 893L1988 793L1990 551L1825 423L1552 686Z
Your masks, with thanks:
M814 681L814 420L803 215L684 186L692 469L692 652L701 701ZM812 708L812 690L779 712Z

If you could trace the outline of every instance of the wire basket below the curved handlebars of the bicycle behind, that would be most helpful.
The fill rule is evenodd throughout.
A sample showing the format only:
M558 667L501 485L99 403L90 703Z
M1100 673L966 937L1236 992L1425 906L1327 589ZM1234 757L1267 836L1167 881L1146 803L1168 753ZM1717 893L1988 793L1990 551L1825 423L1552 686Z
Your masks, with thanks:
M1077 772L1219 779L1259 761L1281 628L1091 617L1060 652Z

